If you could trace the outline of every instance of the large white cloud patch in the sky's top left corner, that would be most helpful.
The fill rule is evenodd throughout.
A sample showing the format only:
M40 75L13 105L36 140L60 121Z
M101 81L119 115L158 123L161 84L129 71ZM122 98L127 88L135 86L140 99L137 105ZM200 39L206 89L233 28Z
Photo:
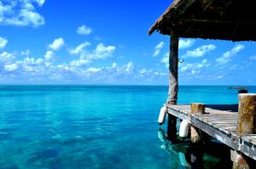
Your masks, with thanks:
M44 0L12 0L0 1L1 25L44 25L44 17L36 11L42 7Z

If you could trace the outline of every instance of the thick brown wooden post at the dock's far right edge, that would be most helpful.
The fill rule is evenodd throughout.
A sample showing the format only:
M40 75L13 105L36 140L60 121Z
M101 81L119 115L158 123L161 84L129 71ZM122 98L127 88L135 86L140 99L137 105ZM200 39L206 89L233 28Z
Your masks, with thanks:
M256 133L256 93L240 93L238 95L238 123L237 135ZM233 168L250 168L250 160L241 153L231 150Z

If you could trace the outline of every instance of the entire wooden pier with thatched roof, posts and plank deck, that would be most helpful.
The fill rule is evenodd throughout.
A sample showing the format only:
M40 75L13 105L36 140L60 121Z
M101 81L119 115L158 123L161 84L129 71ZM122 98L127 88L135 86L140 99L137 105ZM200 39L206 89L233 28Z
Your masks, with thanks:
M177 104L179 38L202 38L229 41L256 41L256 1L218 0L175 0L154 22L148 31L170 36L168 131L170 139L176 138L177 118L190 123L191 142L200 143L200 132L207 132L222 143L230 146L233 168L256 168L256 93L239 94L237 105L205 105L197 107L199 112L190 111L189 105ZM246 91L241 91L245 93ZM201 106L201 107L200 107ZM196 109L197 109L196 108ZM203 109L202 109L203 108ZM166 114L160 114L160 125ZM196 113L196 114L193 114ZM200 131L201 130L201 131ZM183 130L181 130L183 131ZM184 130L185 131L185 130ZM247 159L249 158L249 159ZM249 164L253 159L253 165Z

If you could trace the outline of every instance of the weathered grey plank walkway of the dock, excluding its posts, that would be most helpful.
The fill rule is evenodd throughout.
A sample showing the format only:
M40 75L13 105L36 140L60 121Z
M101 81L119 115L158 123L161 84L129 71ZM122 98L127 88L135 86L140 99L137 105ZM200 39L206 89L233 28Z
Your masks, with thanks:
M236 133L238 105L206 105L206 113L190 115L190 104L166 105L168 114L187 120L191 125L217 138L237 152L256 160L256 134L238 136Z

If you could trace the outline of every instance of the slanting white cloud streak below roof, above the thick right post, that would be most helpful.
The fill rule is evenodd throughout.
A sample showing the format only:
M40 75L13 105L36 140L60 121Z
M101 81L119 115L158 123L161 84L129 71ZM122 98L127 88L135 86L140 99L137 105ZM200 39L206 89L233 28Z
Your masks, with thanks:
M228 62L230 62L230 58L239 53L241 51L241 49L243 49L244 46L241 44L236 44L236 46L234 48L232 48L231 50L225 52L221 57L219 57L218 59L216 59L216 62L218 63L218 65L224 65Z

